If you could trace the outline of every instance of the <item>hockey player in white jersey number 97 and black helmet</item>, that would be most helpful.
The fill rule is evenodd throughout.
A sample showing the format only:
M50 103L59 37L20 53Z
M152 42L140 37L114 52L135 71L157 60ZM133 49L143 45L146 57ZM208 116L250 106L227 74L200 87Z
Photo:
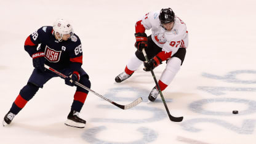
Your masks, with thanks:
M145 30L152 31L150 36L146 36ZM135 25L135 47L137 51L130 58L123 73L116 76L116 82L122 82L130 78L135 70L144 62L145 71L156 68L163 61L167 61L166 68L162 71L158 81L161 90L172 82L175 75L180 70L188 48L188 31L185 23L174 14L170 8L161 9L156 12L149 12ZM149 62L145 62L142 53L145 49ZM159 91L156 86L150 92L148 99L151 102L156 100Z

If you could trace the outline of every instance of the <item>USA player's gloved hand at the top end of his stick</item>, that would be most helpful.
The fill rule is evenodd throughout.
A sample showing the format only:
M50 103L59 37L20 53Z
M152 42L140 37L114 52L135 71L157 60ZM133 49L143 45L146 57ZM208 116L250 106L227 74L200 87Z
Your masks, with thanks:
M44 68L44 61L46 60L44 58L44 52L38 52L36 54L33 54L32 58L34 68L37 68L38 70L44 72L46 70Z

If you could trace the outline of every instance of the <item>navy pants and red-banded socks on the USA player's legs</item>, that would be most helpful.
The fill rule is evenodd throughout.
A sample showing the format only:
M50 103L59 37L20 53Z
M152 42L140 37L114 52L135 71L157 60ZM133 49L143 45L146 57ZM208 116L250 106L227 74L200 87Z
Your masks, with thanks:
M68 71L65 70L61 72L63 74L68 73ZM84 86L90 88L90 81L87 73L81 68L79 74L81 75L79 82ZM18 94L18 97L15 99L14 103L12 103L10 112L18 114L20 110L22 110L22 108L26 105L26 103L34 97L36 92L38 92L39 87L42 88L43 85L47 81L49 81L49 79L54 77L57 77L57 75L50 71L42 73L41 71L35 68L30 76L30 79L28 80L28 83L20 90L20 94ZM74 100L71 105L71 110L75 110L78 112L81 111L81 108L84 105L88 92L88 90L82 89L81 87L76 87L76 92L74 94Z

